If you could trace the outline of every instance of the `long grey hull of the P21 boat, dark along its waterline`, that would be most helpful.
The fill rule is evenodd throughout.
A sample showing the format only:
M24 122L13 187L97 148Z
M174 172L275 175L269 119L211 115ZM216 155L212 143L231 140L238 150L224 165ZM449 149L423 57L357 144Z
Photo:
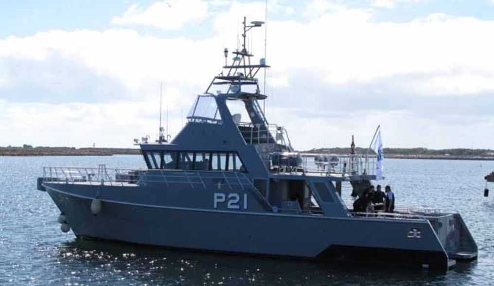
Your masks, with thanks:
M242 253L428 267L447 270L447 253L427 221L309 217L130 204L102 200L46 184L76 236L220 253ZM61 191L62 187L65 190ZM409 238L410 229L421 239Z

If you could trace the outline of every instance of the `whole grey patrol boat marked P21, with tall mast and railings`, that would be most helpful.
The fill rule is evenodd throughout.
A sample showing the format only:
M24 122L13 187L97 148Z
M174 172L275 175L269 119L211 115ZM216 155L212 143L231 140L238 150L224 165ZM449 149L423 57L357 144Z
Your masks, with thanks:
M300 154L287 130L268 120L243 22L233 51L187 123L168 142L135 140L147 168L44 167L38 188L77 238L321 261L447 270L477 257L461 215L414 207L358 213L342 190L361 194L375 180L375 157ZM212 89L218 88L217 92ZM230 106L240 103L242 122ZM325 160L326 158L326 160ZM343 188L342 188L343 185Z

